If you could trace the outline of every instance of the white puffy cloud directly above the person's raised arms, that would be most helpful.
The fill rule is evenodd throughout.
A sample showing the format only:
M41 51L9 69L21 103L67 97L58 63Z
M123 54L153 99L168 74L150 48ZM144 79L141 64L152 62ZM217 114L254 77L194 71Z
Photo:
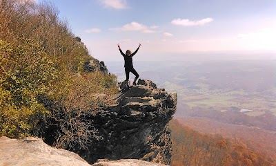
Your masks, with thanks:
M153 27L153 28L152 28ZM148 26L145 26L143 24L139 24L135 21L132 21L130 24L126 24L122 26L121 28L112 28L110 30L115 30L115 31L139 31L141 33L155 33L155 28L157 26L152 26L148 28Z

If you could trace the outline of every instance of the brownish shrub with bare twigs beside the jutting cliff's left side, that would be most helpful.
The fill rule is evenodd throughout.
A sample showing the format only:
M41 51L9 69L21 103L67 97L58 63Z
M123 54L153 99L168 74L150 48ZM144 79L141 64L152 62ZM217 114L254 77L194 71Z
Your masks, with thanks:
M106 105L114 104L112 96L118 91L115 75L83 73L72 75L69 82L66 93L59 100L43 98L50 110L48 130L54 130L51 136L55 142L50 144L63 149L86 149L92 140L101 139L92 116ZM51 136L46 136L46 141L51 140Z

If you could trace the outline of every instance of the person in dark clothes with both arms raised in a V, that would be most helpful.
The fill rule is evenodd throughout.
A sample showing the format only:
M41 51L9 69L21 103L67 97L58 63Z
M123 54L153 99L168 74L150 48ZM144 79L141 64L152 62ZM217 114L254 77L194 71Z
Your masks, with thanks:
M135 79L133 81L133 85L136 85L136 80L139 77L139 74L137 73L137 71L135 71L135 69L133 68L133 64L132 64L132 57L137 53L137 51L139 50L141 44L139 44L138 48L135 50L134 53L131 53L130 50L126 50L126 54L123 53L123 51L120 48L120 45L117 44L121 55L123 55L124 59L125 59L125 71L126 71L126 82L128 82L129 79L129 73L133 73L135 75Z

